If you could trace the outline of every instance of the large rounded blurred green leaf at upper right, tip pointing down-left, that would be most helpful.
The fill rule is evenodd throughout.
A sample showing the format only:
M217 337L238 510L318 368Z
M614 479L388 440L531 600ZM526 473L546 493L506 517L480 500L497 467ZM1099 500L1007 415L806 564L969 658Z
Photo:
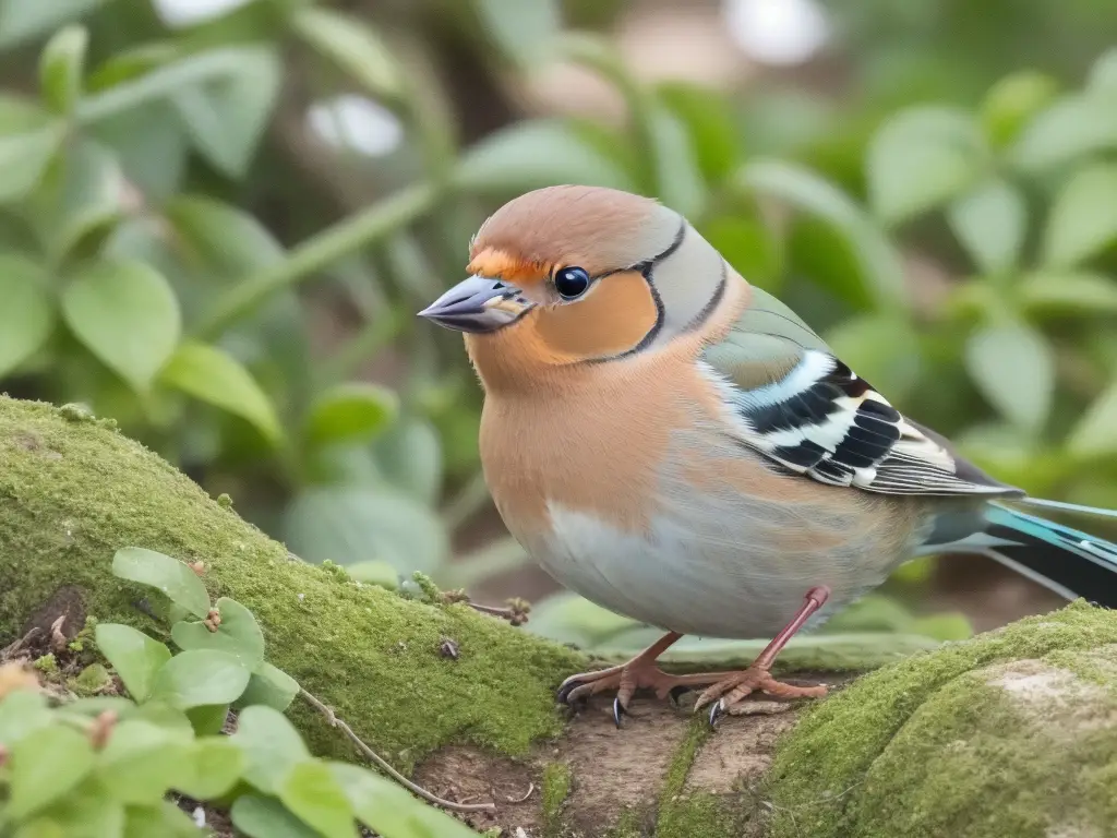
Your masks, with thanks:
M877 132L866 159L873 212L896 225L935 209L973 185L987 153L973 120L961 111L901 111Z

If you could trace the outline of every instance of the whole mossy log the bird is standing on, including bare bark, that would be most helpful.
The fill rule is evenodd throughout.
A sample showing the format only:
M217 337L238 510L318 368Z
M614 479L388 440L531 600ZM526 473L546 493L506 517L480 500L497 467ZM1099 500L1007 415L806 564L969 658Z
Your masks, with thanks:
M584 836L1117 835L1117 616L1075 603L850 682L806 710L724 720L553 691L589 661L478 615L300 562L111 423L0 397L0 646L59 615L153 634L111 573L144 546L206 563L268 657L433 791L494 800L478 828ZM443 638L460 655L446 657ZM818 673L801 674L818 678ZM356 760L321 715L319 754Z

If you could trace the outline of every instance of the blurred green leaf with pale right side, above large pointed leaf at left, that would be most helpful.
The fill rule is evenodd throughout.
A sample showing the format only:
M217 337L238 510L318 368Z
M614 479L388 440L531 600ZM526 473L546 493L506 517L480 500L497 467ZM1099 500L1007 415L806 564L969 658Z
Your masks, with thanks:
M48 170L28 215L49 251L60 258L121 217L128 189L116 156L83 141Z

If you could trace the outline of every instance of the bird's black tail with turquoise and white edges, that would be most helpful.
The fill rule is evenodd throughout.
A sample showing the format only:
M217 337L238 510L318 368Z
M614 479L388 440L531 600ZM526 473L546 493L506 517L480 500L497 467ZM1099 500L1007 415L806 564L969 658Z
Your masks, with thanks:
M1117 512L1025 497L991 501L982 516L982 552L1068 599L1117 608L1117 544L1092 534L1117 533Z

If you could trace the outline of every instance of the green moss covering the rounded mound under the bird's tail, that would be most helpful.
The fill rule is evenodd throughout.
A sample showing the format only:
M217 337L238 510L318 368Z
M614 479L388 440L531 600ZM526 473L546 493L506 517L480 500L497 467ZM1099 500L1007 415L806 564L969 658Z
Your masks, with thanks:
M973 672L1080 661L1092 678L1057 672L1117 712L1117 656L1091 651L1115 642L1117 615L1076 602L859 679L806 711L781 743L768 774L771 835L1039 838L1083 819L1117 834L1117 785L1107 782L1117 730L1054 741L989 673Z

